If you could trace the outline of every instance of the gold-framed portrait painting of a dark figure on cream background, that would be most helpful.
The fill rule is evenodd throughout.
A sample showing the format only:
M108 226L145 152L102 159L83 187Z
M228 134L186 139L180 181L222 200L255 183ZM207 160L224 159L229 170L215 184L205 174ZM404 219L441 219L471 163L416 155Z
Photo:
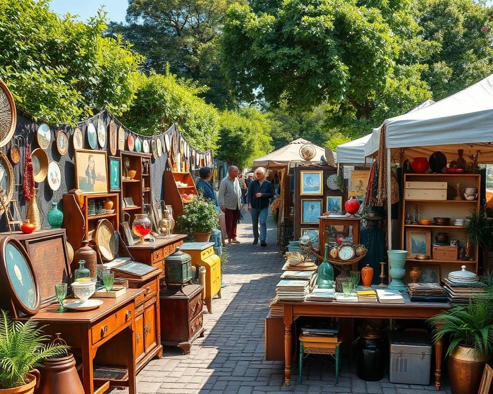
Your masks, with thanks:
M75 150L75 187L84 193L108 192L106 152L99 150Z

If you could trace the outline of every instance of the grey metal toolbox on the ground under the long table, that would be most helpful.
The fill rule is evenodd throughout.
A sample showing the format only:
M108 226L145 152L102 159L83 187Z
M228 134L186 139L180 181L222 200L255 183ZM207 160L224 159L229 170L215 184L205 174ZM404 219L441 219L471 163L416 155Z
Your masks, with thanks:
M431 342L425 332L389 331L392 383L430 384Z

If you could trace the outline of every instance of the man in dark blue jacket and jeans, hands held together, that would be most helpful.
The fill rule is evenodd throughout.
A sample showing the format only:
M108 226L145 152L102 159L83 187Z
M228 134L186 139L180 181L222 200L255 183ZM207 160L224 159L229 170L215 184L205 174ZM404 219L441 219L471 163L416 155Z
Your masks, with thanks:
M255 170L255 181L248 188L248 210L252 213L253 244L258 244L258 222L260 222L260 246L267 246L267 214L269 199L274 196L272 184L266 181L266 169L258 167Z

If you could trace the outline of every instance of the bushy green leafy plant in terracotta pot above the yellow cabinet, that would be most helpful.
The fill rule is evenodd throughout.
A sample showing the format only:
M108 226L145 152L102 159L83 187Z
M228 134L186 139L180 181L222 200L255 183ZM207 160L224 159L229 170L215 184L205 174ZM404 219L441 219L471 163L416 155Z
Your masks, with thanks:
M211 231L219 226L214 203L201 195L183 206L183 214L178 216L177 224L183 233L190 234L196 242L207 242Z

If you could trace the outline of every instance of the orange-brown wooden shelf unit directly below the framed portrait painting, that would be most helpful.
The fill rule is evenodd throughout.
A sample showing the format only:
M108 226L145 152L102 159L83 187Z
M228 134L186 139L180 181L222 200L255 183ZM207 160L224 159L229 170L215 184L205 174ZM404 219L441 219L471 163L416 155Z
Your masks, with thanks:
M104 202L109 199L113 202L114 213L102 215L89 215L88 202ZM115 229L119 228L120 217L120 195L119 193L94 193L83 194L81 197L82 206L80 206L74 194L65 193L63 195L63 227L66 229L67 240L72 245L73 250L77 250L82 245L85 238L90 241L90 234L101 219L108 219Z

